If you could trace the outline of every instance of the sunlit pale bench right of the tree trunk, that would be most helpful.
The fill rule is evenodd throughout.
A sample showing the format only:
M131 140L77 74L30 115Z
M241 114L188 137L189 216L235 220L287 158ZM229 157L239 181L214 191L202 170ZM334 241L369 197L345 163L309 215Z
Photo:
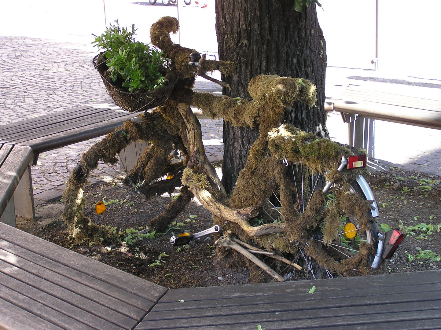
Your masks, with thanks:
M349 85L327 111L341 112L349 124L349 143L374 158L374 120L441 129L441 89L398 83Z

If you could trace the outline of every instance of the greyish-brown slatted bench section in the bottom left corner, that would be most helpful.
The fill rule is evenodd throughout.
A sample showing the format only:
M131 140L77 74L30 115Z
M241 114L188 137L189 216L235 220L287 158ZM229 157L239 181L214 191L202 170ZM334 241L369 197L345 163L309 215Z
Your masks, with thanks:
M165 292L0 223L0 329L131 330Z

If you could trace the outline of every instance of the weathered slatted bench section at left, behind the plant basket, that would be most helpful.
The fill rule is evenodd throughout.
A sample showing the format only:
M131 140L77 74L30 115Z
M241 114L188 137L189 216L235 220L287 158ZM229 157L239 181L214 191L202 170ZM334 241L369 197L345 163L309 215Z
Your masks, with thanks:
M14 195L15 205L19 206L15 208L15 214L26 218L34 217L30 165L37 163L38 154L106 135L134 116L136 114L125 112L112 100L108 100L0 126L0 144L13 146L13 150L21 150L20 152L24 152L22 150L25 149L31 150L31 153L26 156L20 156L19 151L12 152L5 158L6 165L9 164L9 167L0 167L0 177L4 180L5 177L11 176L11 166L20 165L15 169L14 180L23 178L24 181L19 185L15 181L7 184L9 179L2 183L0 216L5 210L4 201L7 202L8 198ZM4 215L2 221L14 225L15 214L12 210L14 210L13 206L8 206L8 215Z

